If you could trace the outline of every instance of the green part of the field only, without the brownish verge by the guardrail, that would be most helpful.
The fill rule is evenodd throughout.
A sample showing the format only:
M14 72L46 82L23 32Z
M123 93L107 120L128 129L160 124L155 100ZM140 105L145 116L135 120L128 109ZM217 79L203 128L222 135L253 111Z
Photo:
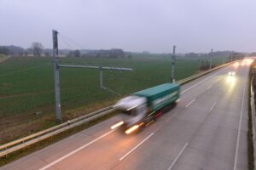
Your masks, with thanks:
M121 95L168 82L168 59L61 59L61 63L131 67L134 71L104 71L104 86ZM177 79L197 71L198 62L177 60ZM99 71L61 68L61 104L73 109L116 97L99 88ZM50 58L12 58L0 65L0 115L12 116L54 107L54 76ZM54 109L54 108L53 108Z

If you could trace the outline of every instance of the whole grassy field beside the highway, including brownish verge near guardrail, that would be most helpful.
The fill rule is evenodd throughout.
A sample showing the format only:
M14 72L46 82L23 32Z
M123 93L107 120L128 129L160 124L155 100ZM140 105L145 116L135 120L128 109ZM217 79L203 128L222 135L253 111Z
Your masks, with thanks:
M171 59L166 55L133 56L132 59L61 58L61 64L131 67L134 71L99 71L61 68L61 110L64 120L113 104L121 96L171 79ZM215 65L223 59L213 59ZM195 74L198 59L177 58L176 80ZM14 57L0 63L0 143L55 124L52 58ZM38 113L36 116L35 113ZM43 120L43 121L42 121ZM24 124L26 126L24 126ZM24 130L24 128L26 130ZM12 134L17 132L19 135ZM30 130L28 130L30 129Z

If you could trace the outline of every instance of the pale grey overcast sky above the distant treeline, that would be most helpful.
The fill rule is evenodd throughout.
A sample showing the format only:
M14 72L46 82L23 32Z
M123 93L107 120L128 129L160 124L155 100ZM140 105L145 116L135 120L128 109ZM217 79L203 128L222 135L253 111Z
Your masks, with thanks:
M54 28L59 48L256 51L255 0L0 0L0 20L0 45L24 48Z

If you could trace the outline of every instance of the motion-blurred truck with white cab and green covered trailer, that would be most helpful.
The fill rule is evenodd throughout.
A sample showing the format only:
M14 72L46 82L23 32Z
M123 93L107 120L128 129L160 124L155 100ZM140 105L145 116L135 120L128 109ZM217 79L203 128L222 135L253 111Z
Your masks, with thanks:
M119 122L111 128L123 127L126 134L148 126L180 100L180 85L165 83L138 91L113 105Z

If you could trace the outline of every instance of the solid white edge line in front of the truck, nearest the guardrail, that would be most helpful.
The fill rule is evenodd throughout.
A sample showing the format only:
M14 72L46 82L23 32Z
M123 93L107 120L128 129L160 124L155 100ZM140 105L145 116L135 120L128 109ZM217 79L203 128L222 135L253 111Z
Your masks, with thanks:
M115 130L116 130L116 129L114 129L114 130L112 130L112 131L109 131L108 133L103 134L102 136L100 136L100 137L98 137L98 138L96 138L96 139L90 141L89 143L80 146L78 149L73 150L72 152L69 152L69 153L66 154L65 156L62 156L61 158L59 158L59 159L57 159L57 160L55 160L55 161L52 161L52 162L49 163L47 166L41 167L39 170L44 170L44 169L47 169L47 168L49 168L49 167L55 165L56 163L58 163L58 162L60 162L60 161L62 161L62 160L64 160L64 159L66 159L68 156L72 156L73 154L77 153L79 150L83 150L84 148L86 148L86 147L89 146L90 144L93 144L93 143L95 143L96 141L98 141L99 139L102 139L102 138L106 137L108 134L113 133Z

